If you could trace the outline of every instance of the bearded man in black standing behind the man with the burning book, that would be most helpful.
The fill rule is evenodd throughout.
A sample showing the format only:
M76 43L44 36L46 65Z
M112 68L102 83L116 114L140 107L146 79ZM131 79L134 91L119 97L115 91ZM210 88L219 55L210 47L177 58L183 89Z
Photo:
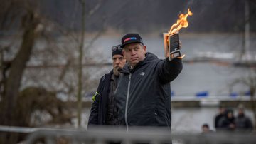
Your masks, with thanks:
M88 125L118 125L117 115L114 115L113 93L117 88L118 69L123 68L126 63L120 46L112 47L113 69L100 78L97 92L92 97L93 103Z

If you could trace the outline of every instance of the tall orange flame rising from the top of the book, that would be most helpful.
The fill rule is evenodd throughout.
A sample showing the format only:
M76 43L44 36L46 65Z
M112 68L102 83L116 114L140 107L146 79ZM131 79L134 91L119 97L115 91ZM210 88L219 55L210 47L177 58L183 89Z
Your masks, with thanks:
M171 36L172 34L176 34L181 28L188 27L187 17L192 15L193 13L190 11L190 9L188 9L187 14L180 14L177 22L171 26L168 35Z

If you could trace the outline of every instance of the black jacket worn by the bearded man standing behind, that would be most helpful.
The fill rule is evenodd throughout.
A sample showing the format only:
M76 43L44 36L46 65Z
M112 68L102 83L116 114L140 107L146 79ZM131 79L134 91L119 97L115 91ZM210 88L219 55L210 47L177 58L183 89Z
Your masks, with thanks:
M107 125L107 102L110 93L110 79L113 71L100 78L89 117L88 125Z

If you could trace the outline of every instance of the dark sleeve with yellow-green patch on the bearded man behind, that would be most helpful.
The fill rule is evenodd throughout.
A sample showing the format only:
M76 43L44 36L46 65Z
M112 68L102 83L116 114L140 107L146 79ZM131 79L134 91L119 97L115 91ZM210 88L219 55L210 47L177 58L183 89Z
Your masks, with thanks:
M95 95L92 96L93 103L92 103L92 108L90 110L90 117L89 117L89 120L88 120L88 126L98 124L98 115L99 115L98 110L99 110L100 93L102 91L103 80L104 80L104 77L102 77L100 79L100 84L97 88L97 91L96 91Z

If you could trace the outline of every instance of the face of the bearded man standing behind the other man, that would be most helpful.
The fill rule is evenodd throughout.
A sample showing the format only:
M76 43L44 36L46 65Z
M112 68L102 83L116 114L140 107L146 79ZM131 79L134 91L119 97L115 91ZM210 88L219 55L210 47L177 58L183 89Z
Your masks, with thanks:
M126 59L124 56L117 54L112 57L112 60L114 75L119 76L118 69L124 67Z

